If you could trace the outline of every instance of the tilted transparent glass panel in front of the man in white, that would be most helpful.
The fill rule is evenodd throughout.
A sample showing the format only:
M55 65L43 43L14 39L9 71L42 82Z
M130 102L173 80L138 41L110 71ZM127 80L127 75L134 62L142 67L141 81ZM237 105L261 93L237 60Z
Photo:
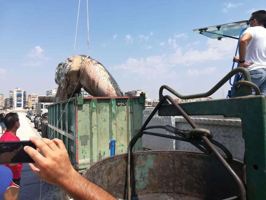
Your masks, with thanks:
M224 38L225 36L222 35L228 35L231 37L236 36L238 38L240 32L246 27L247 27L246 21L238 21L229 24L222 24L217 26L205 27L201 29L194 29L193 31L195 31L196 33L200 33L206 37L210 37L212 39ZM220 35L214 33L218 33Z

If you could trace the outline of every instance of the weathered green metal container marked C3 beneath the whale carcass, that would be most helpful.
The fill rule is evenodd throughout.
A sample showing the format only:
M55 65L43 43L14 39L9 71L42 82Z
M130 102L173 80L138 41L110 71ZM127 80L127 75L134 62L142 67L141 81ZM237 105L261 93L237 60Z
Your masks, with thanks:
M131 138L142 126L145 95L140 97L73 97L48 107L48 138L61 139L77 170L109 156L126 153ZM141 151L141 140L133 151Z

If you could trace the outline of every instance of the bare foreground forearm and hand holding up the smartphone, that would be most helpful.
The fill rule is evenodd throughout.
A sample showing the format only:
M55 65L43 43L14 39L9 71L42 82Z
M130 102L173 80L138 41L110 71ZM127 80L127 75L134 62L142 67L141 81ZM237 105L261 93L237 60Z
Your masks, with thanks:
M62 140L38 139L37 137L31 137L30 140L45 156L43 157L32 147L24 147L35 161L29 165L38 178L58 185L75 200L115 200L107 191L75 171Z

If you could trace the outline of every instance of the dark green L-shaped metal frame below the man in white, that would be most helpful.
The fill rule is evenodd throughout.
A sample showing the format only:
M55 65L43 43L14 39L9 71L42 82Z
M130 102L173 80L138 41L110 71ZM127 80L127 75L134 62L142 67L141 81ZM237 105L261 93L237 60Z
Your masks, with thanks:
M266 199L266 99L264 95L180 103L188 115L239 117L245 139L247 200ZM160 116L181 115L162 105Z

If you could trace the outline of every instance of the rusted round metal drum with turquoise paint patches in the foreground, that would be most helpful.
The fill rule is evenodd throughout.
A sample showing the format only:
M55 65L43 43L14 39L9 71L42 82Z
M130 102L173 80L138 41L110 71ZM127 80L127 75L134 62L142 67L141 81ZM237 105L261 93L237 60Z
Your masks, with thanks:
M231 167L242 176L241 161L233 160ZM199 152L134 152L131 169L132 199L221 200L239 194L237 183L220 161ZM83 176L114 197L126 199L127 154L102 159Z

